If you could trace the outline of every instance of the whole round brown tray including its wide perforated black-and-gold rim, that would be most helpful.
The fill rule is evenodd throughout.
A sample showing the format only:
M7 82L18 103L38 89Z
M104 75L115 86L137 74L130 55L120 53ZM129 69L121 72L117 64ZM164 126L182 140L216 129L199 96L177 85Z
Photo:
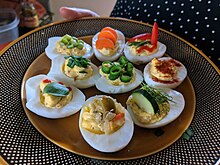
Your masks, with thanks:
M50 60L44 54L48 38L69 33L90 40L105 26L122 31L127 38L152 28L120 18L62 21L27 33L0 52L1 157L8 164L215 164L220 157L220 71L196 47L163 29L159 40L167 46L166 54L186 66L188 77L177 88L186 99L186 107L177 120L162 128L162 136L155 137L154 130L135 127L126 148L104 154L89 147L80 136L78 114L53 120L24 108L24 82L30 76L48 72ZM98 91L89 88L83 92L88 98ZM125 105L123 100L128 95L113 97ZM189 141L180 138L188 126L194 132ZM155 139L156 143L152 143ZM150 149L145 149L146 145Z

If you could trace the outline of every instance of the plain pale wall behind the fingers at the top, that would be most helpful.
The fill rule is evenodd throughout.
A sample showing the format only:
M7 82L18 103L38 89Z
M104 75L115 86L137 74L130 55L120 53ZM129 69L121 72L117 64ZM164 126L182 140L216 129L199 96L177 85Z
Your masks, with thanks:
M50 11L55 14L54 22L63 20L59 15L59 8L62 6L86 8L100 16L109 16L115 3L116 0L49 0Z

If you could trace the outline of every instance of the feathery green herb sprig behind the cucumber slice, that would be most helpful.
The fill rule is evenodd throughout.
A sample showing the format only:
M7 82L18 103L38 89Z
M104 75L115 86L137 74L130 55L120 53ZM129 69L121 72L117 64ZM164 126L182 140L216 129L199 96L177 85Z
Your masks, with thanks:
M147 84L141 84L141 89L146 90L157 103L162 104L164 102L174 102L173 98L169 96L167 93L163 92L161 89L153 88Z

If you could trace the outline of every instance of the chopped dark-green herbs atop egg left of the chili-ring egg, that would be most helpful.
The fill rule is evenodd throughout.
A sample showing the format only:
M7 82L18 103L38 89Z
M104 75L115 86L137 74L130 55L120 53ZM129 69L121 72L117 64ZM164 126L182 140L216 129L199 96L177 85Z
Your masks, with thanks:
M81 68L87 68L90 65L90 60L78 56L66 56L65 59L68 59L67 66L73 68L75 65Z

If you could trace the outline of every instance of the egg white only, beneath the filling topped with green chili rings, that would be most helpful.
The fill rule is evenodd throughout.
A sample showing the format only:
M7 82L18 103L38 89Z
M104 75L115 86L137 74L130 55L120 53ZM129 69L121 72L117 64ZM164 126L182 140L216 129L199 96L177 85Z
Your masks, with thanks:
M106 80L105 77L100 77L95 83L96 88L102 92L110 93L110 94L118 94L118 93L125 93L131 91L136 87L138 87L143 81L142 72L138 69L135 69L135 72L136 72L136 78L135 81L132 82L131 84L116 86L109 84L108 80Z

